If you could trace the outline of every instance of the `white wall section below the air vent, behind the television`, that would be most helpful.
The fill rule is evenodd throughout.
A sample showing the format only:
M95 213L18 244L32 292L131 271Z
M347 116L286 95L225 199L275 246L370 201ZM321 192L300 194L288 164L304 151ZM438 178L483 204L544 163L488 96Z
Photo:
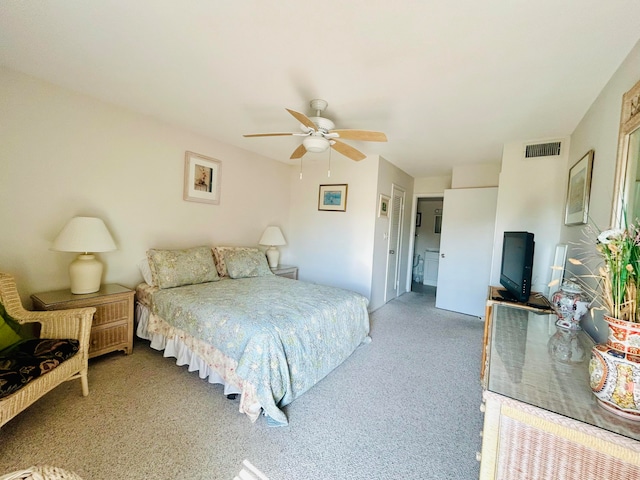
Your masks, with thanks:
M535 236L531 289L548 291L555 247L564 219L569 139L561 157L523 158L524 141L504 145L498 188L491 284L500 285L502 235L527 231Z

